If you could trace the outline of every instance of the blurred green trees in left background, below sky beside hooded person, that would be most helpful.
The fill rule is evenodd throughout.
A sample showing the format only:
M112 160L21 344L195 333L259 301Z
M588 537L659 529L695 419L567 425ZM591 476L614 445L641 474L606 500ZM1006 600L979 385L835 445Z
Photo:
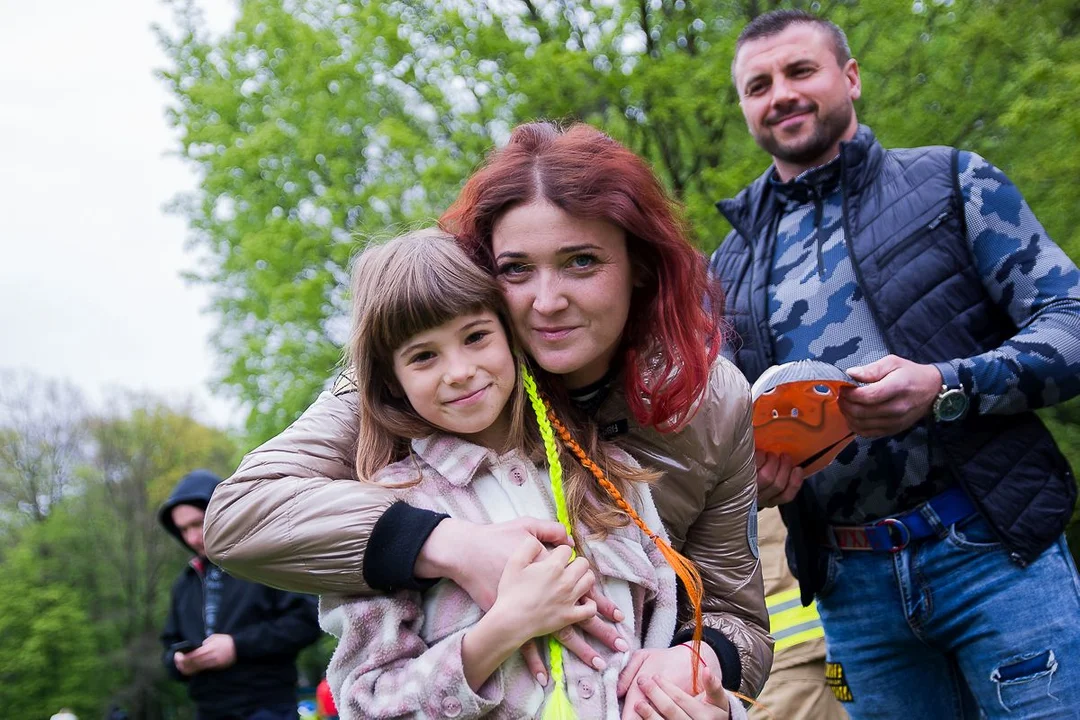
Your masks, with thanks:
M158 525L157 508L190 470L228 474L239 459L234 440L152 397L113 397L105 416L72 413L65 403L81 408L72 389L22 380L15 397L26 411L0 406L0 436L66 471L63 488L39 493L48 503L0 494L4 717L68 707L98 718L110 703L133 720L192 717L186 688L165 676L158 640L189 554ZM80 440L55 441L69 437ZM0 454L0 487L40 489L31 483L39 474Z

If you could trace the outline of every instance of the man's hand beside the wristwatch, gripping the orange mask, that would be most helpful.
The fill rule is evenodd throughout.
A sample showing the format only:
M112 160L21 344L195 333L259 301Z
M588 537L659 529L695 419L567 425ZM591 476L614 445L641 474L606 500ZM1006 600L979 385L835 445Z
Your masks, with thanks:
M848 370L867 383L840 389L840 411L856 435L886 437L902 433L927 417L942 390L942 373L933 365L886 355L876 363Z

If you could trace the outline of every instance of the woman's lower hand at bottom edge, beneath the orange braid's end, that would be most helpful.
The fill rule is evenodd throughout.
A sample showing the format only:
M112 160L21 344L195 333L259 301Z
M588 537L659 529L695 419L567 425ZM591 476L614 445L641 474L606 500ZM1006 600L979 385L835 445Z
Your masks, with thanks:
M716 658L716 653L708 644L701 643L701 660L705 661L705 667L699 668L699 681L705 677L704 670L716 678L720 677L720 663ZM678 688L688 695L694 694L692 687L693 667L700 665L701 661L694 656L690 646L675 646L663 650L638 650L635 652L626 667L619 674L619 684L616 694L623 697L622 720L636 720L640 716L637 707L640 703L648 704L645 688L654 682L653 678L664 678L675 688ZM727 695L720 693L724 710L728 707ZM678 716L674 716L678 717ZM721 716L723 717L723 716Z

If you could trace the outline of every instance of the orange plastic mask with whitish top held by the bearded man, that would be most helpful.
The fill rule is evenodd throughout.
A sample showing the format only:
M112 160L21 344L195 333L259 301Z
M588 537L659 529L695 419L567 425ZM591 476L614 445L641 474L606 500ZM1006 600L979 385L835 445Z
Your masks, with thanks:
M754 446L786 453L807 475L816 473L854 439L837 398L840 388L856 384L842 370L820 361L770 367L751 390Z

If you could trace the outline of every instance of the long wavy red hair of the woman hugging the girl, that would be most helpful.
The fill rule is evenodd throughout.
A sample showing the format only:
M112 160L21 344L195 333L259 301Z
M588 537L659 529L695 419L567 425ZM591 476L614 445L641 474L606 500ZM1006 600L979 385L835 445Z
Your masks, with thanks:
M680 426L719 352L723 297L679 208L625 146L590 125L564 131L537 122L517 126L510 142L488 155L440 222L495 274L495 223L534 201L625 232L635 276L620 350L626 402L643 425Z

